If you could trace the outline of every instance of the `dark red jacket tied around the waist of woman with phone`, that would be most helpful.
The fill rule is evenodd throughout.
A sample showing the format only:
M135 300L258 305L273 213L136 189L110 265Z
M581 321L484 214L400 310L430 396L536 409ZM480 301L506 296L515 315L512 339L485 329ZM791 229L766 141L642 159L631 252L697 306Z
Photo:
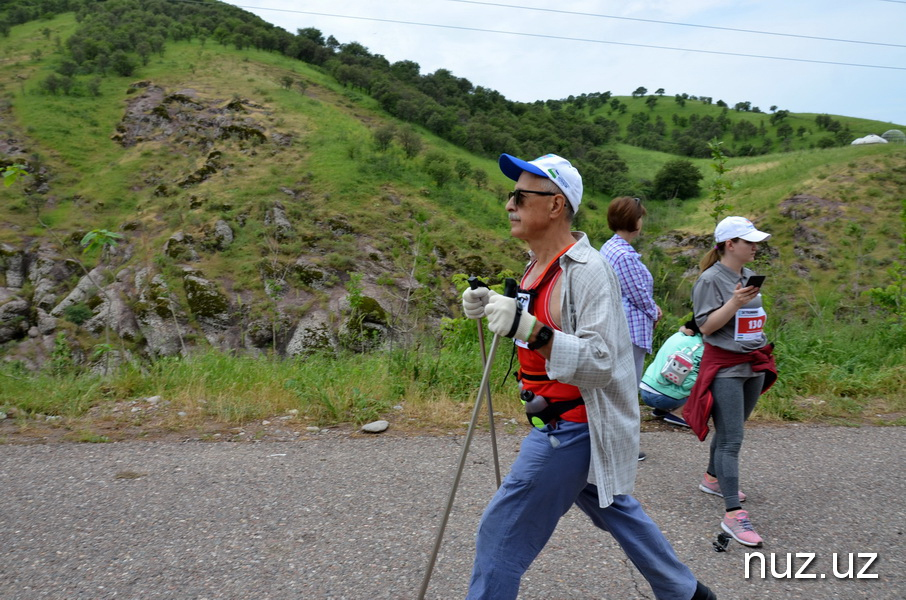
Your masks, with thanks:
M752 352L730 352L705 342L705 351L698 370L698 379L689 394L689 400L683 406L683 418L698 439L704 441L708 437L708 419L711 417L711 406L714 398L711 396L711 382L717 372L726 367L752 363L752 370L756 373L764 371L764 385L761 393L765 393L777 381L777 365L774 362L774 345L768 344Z

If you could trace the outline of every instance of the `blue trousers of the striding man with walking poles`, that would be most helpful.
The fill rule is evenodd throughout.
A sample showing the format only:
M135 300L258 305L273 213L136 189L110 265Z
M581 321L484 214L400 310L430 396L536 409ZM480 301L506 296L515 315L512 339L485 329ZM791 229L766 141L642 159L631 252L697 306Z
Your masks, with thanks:
M515 600L523 573L573 504L614 537L656 598L692 597L695 576L638 500L622 495L598 506L598 488L587 481L589 444L587 423L532 428L478 526L468 600ZM589 549L575 552L584 556Z

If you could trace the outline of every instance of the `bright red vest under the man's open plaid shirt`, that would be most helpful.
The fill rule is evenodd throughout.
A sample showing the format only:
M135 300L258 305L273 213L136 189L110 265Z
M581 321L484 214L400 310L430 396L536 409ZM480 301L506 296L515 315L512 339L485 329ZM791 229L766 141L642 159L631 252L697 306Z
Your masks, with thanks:
M547 265L544 273L541 274L531 285L526 286L525 276L531 270L535 263L531 263L522 276L522 284L519 288L520 294L528 294L528 306L524 307L529 313L550 327L560 331L554 325L550 313L551 295L554 285L563 274L560 268L560 257L569 250L571 246L563 249L554 260ZM559 298L556 299L559 302ZM547 376L545 358L535 350L529 350L522 344L516 345L516 355L519 357L519 372L516 378L522 382L522 388L531 390L536 396L543 396L548 402L562 402L564 400L576 400L582 397L582 393L574 385L561 383L556 379ZM579 405L576 408L566 411L560 416L564 421L573 421L576 423L587 423L588 414L585 411L585 405Z

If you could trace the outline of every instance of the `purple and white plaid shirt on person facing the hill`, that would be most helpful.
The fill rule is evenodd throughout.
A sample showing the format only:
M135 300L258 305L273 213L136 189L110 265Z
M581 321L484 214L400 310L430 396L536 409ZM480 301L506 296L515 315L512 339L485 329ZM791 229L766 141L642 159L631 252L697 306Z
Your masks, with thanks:
M654 321L657 319L654 277L642 264L642 255L616 234L601 246L601 256L613 267L620 280L623 312L629 322L632 343L651 353Z

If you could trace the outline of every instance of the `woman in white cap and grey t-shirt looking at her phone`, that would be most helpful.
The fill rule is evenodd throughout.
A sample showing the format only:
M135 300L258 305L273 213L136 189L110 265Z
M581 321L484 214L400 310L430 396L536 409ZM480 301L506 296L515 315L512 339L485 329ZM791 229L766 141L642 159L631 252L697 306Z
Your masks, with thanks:
M776 380L773 346L764 335L767 315L760 286L749 285L758 243L770 234L744 217L727 217L714 230L716 245L700 263L692 288L694 319L704 335L705 351L698 379L683 408L683 417L704 440L708 418L714 420L708 469L699 489L722 496L726 512L721 527L737 542L761 546L747 511L740 503L739 450L745 421L758 397Z

